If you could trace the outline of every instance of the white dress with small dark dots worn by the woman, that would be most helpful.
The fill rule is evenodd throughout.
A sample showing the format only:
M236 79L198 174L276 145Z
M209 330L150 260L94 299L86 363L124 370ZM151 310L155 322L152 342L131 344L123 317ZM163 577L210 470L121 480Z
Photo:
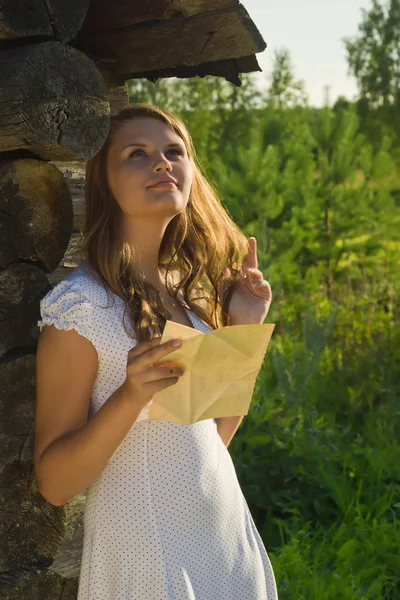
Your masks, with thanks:
M125 380L124 302L80 266L41 301L99 360L88 418ZM210 331L189 308L195 329ZM127 329L132 334L129 319ZM173 394L173 388L171 388ZM77 600L276 600L272 566L214 419L139 415L88 487Z

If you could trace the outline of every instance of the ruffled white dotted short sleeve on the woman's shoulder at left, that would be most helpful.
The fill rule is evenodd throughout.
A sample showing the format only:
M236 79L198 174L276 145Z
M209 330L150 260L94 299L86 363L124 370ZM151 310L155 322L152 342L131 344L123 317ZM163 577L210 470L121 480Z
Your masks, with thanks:
M44 325L55 325L57 329L75 329L95 347L99 356L99 323L96 320L96 305L81 290L68 281L60 281L40 301L41 319L37 322L40 331Z

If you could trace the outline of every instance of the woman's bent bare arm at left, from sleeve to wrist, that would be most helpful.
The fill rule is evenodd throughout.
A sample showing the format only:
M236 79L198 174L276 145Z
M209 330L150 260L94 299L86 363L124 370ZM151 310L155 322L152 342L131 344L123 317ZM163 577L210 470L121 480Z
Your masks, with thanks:
M61 506L101 474L140 408L118 388L87 421L98 357L74 330L44 327L36 360L36 480L43 497Z

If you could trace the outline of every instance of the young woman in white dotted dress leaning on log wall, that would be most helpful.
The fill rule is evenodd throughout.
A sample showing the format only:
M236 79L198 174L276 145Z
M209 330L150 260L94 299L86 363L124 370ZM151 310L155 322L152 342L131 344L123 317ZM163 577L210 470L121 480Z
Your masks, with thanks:
M256 240L183 123L154 106L112 118L85 200L79 266L40 303L35 446L45 499L87 491L78 600L276 600L227 450L242 417L148 417L183 374L160 344L166 319L202 332L264 321Z

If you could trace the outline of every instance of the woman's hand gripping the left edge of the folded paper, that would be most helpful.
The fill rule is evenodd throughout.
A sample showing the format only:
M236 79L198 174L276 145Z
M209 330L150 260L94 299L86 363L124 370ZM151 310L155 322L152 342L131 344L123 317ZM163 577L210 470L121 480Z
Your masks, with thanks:
M126 379L121 386L129 402L144 408L150 404L156 392L179 381L185 371L183 365L176 361L159 362L180 347L173 346L173 341L161 344L161 337L156 337L129 350Z

